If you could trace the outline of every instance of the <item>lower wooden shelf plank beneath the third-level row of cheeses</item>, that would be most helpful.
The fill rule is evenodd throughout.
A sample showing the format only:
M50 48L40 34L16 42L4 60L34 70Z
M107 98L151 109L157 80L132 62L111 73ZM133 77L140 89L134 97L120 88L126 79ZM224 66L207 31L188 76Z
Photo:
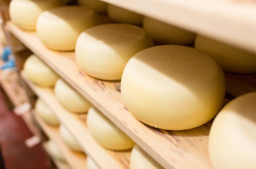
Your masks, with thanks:
M35 112L33 112L33 115L35 116L36 121L38 121L38 124L40 125L40 127L42 127L44 132L48 135L50 139L55 142L55 144L61 150L61 154L67 160L68 164L73 169L85 169L86 156L82 153L76 153L67 147L67 145L61 139L58 127L51 127L45 124L45 122Z

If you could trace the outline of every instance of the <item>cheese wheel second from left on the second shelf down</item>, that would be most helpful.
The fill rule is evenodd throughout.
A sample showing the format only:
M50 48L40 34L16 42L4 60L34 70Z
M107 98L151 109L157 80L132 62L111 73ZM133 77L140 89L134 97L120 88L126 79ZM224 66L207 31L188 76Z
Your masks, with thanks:
M56 82L55 97L65 109L73 113L86 113L91 105L84 96L62 79Z

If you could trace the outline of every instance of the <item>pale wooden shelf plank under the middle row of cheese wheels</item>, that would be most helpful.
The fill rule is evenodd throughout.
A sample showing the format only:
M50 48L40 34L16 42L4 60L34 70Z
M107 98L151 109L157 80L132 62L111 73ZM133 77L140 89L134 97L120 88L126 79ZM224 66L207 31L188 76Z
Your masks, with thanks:
M51 88L37 87L27 80L24 73L22 76L38 97L43 99L44 102L49 105L49 108L55 112L55 115L59 118L61 123L73 133L73 136L77 138L84 152L90 155L98 166L106 169L130 168L130 151L111 151L103 149L90 135L85 123L86 115L75 115L65 110L55 99Z

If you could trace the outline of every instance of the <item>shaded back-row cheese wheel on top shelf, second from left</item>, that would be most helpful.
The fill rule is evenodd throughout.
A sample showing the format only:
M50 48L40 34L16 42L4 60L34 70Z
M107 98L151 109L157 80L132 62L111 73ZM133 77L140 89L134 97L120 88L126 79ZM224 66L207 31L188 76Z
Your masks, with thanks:
M141 25L143 23L143 15L132 12L125 8L120 8L112 4L108 4L108 16L111 20L126 24Z

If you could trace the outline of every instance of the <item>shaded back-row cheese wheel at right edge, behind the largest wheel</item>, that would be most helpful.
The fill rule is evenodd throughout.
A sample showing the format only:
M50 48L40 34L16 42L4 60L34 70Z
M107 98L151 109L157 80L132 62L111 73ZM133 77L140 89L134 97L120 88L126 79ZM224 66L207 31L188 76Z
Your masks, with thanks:
M234 73L256 72L256 54L208 37L197 35L195 48L209 54L225 70Z

